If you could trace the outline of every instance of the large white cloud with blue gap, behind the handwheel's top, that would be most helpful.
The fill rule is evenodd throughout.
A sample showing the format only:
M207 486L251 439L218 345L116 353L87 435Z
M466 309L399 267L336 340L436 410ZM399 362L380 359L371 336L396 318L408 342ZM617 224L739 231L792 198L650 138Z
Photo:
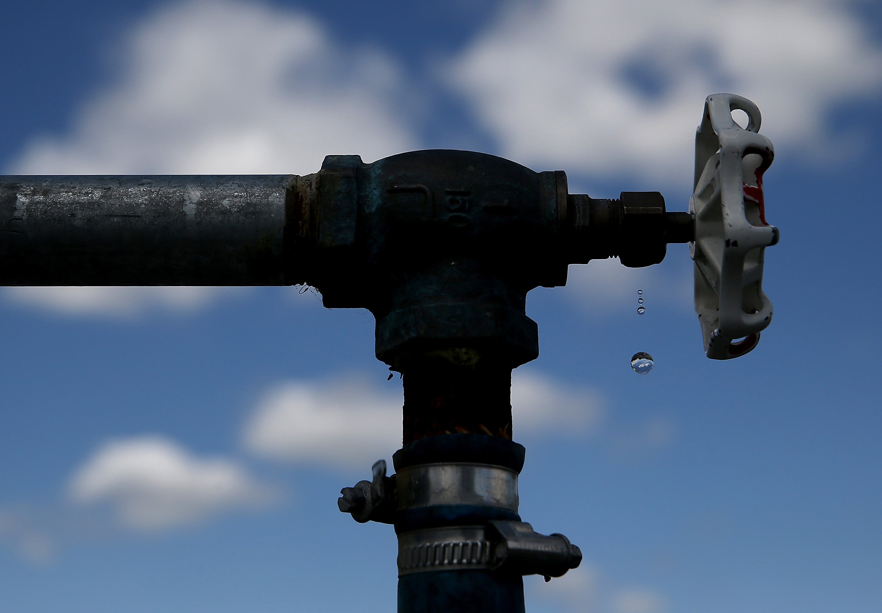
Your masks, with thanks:
M708 94L756 102L779 149L817 146L882 52L839 0L545 0L507 5L451 74L507 157L686 187Z

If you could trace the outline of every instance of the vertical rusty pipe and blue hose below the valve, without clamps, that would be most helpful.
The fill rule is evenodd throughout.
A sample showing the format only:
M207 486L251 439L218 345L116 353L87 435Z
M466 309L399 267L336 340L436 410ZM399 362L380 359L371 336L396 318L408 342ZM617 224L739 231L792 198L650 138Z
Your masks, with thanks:
M512 369L498 365L487 356L470 359L477 356L475 351L459 348L432 352L419 359L411 359L401 367L405 396L405 445L394 458L399 473L414 465L439 463L488 465L513 470L515 475L519 473L523 466L524 448L511 440ZM469 483L460 483L460 486L467 490ZM454 487L456 485L448 486L448 489ZM519 521L516 507L515 502L514 510L511 507L475 504L400 509L395 521L395 531L402 543L400 557L404 551L404 539L409 535L431 535L436 528L483 527L490 520ZM421 530L425 532L414 532ZM443 537L423 538L437 541ZM429 553L421 555L427 559L432 556L462 556L457 547L462 548L455 543L437 545ZM401 559L399 564L401 568ZM523 579L519 575L502 574L489 568L400 574L398 611L523 613Z

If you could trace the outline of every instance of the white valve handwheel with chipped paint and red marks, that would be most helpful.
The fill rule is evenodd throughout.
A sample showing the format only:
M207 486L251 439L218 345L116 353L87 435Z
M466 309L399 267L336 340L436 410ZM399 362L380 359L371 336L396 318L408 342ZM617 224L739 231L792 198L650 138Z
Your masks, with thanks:
M749 117L746 130L732 118L735 109ZM759 122L753 102L716 93L707 96L695 135L689 205L695 216L695 312L705 354L714 360L751 351L772 321L772 302L762 288L763 258L779 232L766 222L762 176L774 148L759 135Z

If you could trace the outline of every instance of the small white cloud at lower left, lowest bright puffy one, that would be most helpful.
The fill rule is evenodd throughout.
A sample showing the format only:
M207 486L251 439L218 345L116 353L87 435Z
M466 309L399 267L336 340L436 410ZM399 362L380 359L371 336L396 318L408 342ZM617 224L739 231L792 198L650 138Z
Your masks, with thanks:
M164 437L102 445L69 483L79 505L105 503L125 527L161 530L268 502L273 493L232 460L197 458Z

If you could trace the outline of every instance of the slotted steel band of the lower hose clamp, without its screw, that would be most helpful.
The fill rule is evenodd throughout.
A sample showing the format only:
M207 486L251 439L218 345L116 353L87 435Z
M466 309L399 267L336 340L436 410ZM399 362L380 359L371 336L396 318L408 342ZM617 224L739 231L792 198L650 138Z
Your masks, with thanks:
M398 537L398 574L427 571L489 570L496 543L482 526L414 530Z

